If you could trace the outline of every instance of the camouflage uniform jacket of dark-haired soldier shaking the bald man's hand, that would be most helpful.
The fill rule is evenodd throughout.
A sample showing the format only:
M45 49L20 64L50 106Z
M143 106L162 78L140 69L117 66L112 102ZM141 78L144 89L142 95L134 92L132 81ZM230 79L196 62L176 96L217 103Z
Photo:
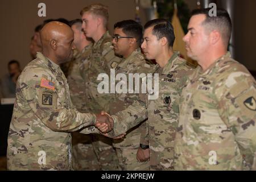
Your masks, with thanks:
M174 169L174 139L179 115L179 97L191 65L175 52L164 68L156 68L159 74L159 96L156 100L135 101L126 110L113 115L114 133L119 135L148 118L150 144L150 169Z

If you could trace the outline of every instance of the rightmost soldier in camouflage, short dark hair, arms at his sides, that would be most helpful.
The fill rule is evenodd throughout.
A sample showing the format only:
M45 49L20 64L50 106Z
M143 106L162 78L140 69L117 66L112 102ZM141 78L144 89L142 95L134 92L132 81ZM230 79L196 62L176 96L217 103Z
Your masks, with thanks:
M256 169L256 82L226 51L229 14L209 10L193 11L183 38L200 66L181 94L175 169Z

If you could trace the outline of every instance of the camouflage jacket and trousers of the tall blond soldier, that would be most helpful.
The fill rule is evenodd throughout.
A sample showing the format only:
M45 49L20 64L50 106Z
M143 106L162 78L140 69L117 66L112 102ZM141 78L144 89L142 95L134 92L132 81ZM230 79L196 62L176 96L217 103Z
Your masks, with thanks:
M112 36L107 31L97 43L93 44L92 53L80 69L85 81L86 99L88 109L92 113L100 113L102 110L109 111L110 96L108 93L98 93L97 86L101 82L97 80L100 73L110 76L110 69L115 68L121 61L114 55ZM113 148L113 139L102 135L93 136L93 148L98 156L102 170L118 169L117 155Z

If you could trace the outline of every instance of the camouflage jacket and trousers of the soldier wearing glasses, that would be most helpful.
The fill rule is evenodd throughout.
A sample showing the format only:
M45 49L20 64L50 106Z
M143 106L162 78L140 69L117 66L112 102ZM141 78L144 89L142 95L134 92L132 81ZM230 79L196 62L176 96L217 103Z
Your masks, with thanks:
M130 73L144 73L152 71L153 65L147 64L140 51L137 49L131 53L127 59L123 59L115 69L115 75L124 73L127 81ZM128 82L123 82L127 85ZM122 82L122 81L120 81ZM119 83L120 83L119 82ZM116 83L117 85L118 83ZM141 85L135 85L140 86ZM134 90L134 88L132 88ZM133 104L134 100L139 100L139 94L136 93L117 93L112 94L112 101L110 102L110 114L115 114L118 111L125 110L129 105ZM121 170L149 170L148 162L138 162L137 151L141 140L142 128L146 127L147 122L143 121L141 124L133 127L126 132L125 138L114 139L113 146L117 150L119 169ZM148 144L148 143L147 143Z

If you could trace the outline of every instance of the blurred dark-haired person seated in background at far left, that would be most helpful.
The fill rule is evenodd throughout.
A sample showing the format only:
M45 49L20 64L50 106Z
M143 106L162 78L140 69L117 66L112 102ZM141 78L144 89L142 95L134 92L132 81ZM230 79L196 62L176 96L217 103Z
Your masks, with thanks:
M9 73L1 79L1 92L3 98L15 97L16 81L21 72L19 62L16 60L9 61L8 71Z

